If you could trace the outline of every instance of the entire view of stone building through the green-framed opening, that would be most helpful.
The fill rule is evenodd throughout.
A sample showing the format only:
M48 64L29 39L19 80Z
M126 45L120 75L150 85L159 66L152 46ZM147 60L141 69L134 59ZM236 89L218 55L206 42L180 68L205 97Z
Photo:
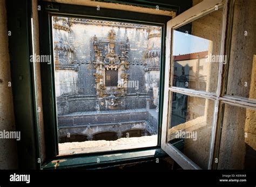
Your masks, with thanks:
M156 146L161 27L52 23L59 155Z

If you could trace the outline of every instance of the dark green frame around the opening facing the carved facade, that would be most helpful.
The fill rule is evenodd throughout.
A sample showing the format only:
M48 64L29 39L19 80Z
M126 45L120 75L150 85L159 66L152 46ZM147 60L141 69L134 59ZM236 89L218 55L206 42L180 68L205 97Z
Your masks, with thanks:
M81 17L91 19L104 19L112 21L126 21L129 23L156 25L161 27L161 63L160 63L160 84L159 91L159 106L163 104L163 80L164 80L164 66L165 66L165 35L166 35L166 24L171 19L169 16L150 15L146 13L132 12L129 13L123 10L112 10L100 8L100 11L96 11L94 7L81 6L81 5L70 5L70 4L59 4L50 2L41 2L41 13L39 14L39 31L40 31L40 48L41 54L51 55L51 62L53 61L53 45L52 45L52 16L70 16L70 17ZM111 12L111 14L106 14ZM104 15L110 15L105 17ZM132 16L131 16L132 15ZM134 20L140 17L139 20ZM112 155L112 159L116 157L114 154L122 153L136 153L145 150L159 150L161 140L161 120L162 120L162 107L159 107L159 119L158 119L158 145L153 147L144 147L137 149L126 149L110 152L98 152L98 153L85 153L67 156L58 155L58 131L57 131L57 113L56 113L56 98L55 98L55 80L54 80L54 63L51 66L47 64L41 64L41 80L42 80L42 97L43 97L43 108L44 108L44 129L45 129L45 147L46 147L46 162L43 164L44 167L49 167L49 163L53 160L60 159L75 159L77 157L88 157L88 156L104 156L107 154ZM48 102L46 102L46 100ZM152 152L149 152L150 154ZM130 154L132 159L132 154ZM147 155L157 156L157 154ZM76 159L75 159L76 160ZM98 164L97 162L95 164ZM53 167L52 164L50 164Z

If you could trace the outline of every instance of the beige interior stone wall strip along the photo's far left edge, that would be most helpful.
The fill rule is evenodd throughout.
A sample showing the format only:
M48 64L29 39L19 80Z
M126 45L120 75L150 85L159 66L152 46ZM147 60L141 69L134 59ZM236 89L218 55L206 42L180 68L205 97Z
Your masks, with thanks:
M0 0L0 131L15 131L5 0ZM17 169L16 140L0 139L0 169Z

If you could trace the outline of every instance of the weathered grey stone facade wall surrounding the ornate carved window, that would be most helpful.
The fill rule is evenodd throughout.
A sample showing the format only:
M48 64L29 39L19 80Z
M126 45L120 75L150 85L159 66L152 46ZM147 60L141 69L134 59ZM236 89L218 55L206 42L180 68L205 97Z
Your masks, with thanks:
M55 80L58 115L79 111L109 110L110 102L96 91L95 50L93 37L103 42L106 55L108 34L115 34L115 52L120 54L122 41L129 39L129 84L125 97L117 99L116 110L158 106L161 33L160 27L101 21L53 17L55 45ZM68 73L69 72L69 73ZM72 73L73 72L73 73ZM110 94L110 93L109 93Z

